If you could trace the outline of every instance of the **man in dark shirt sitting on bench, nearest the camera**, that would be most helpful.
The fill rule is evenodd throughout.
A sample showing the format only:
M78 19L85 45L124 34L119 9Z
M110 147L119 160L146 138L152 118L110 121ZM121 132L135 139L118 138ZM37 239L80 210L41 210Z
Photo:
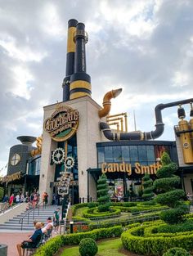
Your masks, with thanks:
M41 228L42 228L42 223L37 222L35 224L34 234L32 236L29 236L29 239L24 240L21 244L16 245L19 256L22 256L21 248L22 249L36 248L36 246L38 245L38 242L41 240L41 237L43 235Z

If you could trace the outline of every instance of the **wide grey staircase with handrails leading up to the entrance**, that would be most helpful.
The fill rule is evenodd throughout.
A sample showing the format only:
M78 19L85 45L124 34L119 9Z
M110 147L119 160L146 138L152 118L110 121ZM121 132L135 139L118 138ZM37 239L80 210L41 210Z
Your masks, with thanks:
M38 222L46 222L48 217L53 218L53 213L57 209L57 205L47 205L46 208L34 209L32 211L25 210L25 212L16 215L16 217L9 219L7 222L0 224L0 231L33 231L34 219ZM61 207L60 207L61 208ZM29 214L28 214L29 213ZM25 216L25 218L23 218ZM23 223L22 219L23 218Z

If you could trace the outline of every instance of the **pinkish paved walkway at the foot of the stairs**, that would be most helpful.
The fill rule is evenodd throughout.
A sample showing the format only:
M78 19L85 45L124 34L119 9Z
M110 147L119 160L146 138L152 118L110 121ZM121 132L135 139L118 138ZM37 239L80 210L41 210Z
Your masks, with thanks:
M7 256L18 256L16 245L28 238L32 233L0 233L0 243L8 246Z

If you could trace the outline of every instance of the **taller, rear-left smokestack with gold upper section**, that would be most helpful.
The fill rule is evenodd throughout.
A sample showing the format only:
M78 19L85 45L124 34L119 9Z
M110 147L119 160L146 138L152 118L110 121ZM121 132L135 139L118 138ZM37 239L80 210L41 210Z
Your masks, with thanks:
M70 100L70 75L74 74L74 58L75 58L75 43L74 34L76 31L77 20L69 20L68 22L68 38L67 38L67 55L65 79L63 80L63 101Z

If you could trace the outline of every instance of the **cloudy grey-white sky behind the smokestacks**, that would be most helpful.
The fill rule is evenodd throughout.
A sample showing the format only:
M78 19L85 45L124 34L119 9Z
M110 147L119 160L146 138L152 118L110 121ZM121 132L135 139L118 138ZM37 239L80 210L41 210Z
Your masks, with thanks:
M149 132L156 105L193 97L192 0L0 0L0 169L16 137L41 135L43 106L62 100L72 18L88 32L92 98L101 105L123 88L111 114L127 111L130 131L133 110L137 129ZM173 140L177 108L163 118L159 139Z

